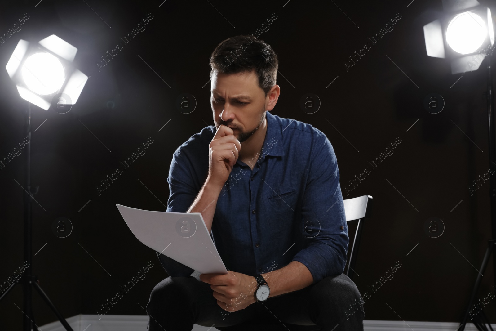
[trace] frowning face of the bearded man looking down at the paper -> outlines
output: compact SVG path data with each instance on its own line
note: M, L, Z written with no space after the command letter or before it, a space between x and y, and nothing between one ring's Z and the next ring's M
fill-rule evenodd
M226 74L215 70L211 86L210 104L215 128L225 125L233 129L240 142L244 142L265 119L265 93L258 86L255 71Z

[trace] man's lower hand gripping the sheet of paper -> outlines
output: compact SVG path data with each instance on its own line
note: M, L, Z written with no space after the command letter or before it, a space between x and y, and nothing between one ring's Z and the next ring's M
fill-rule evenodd
M220 308L235 312L255 303L257 283L253 276L228 270L227 274L202 273L200 280L209 283Z

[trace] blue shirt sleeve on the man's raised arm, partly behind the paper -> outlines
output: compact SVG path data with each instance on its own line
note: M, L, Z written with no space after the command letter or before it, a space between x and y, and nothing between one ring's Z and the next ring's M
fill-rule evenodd
M192 175L188 171L190 162L185 153L180 149L174 152L169 176L169 200L167 202L167 211L169 212L186 212L191 203L198 195L199 190L195 190L192 183ZM164 267L167 274L171 277L189 276L194 269L164 254L157 252L160 264Z

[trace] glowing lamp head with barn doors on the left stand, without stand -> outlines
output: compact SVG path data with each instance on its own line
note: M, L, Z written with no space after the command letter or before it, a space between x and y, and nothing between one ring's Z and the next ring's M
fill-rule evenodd
M72 65L76 52L77 48L56 35L37 44L21 39L5 69L19 95L38 107L73 105L88 78Z

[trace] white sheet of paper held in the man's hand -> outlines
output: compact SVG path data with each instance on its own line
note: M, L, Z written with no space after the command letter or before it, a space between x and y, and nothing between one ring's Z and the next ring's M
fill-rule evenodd
M151 211L116 205L134 236L149 248L200 273L228 273L201 213Z

